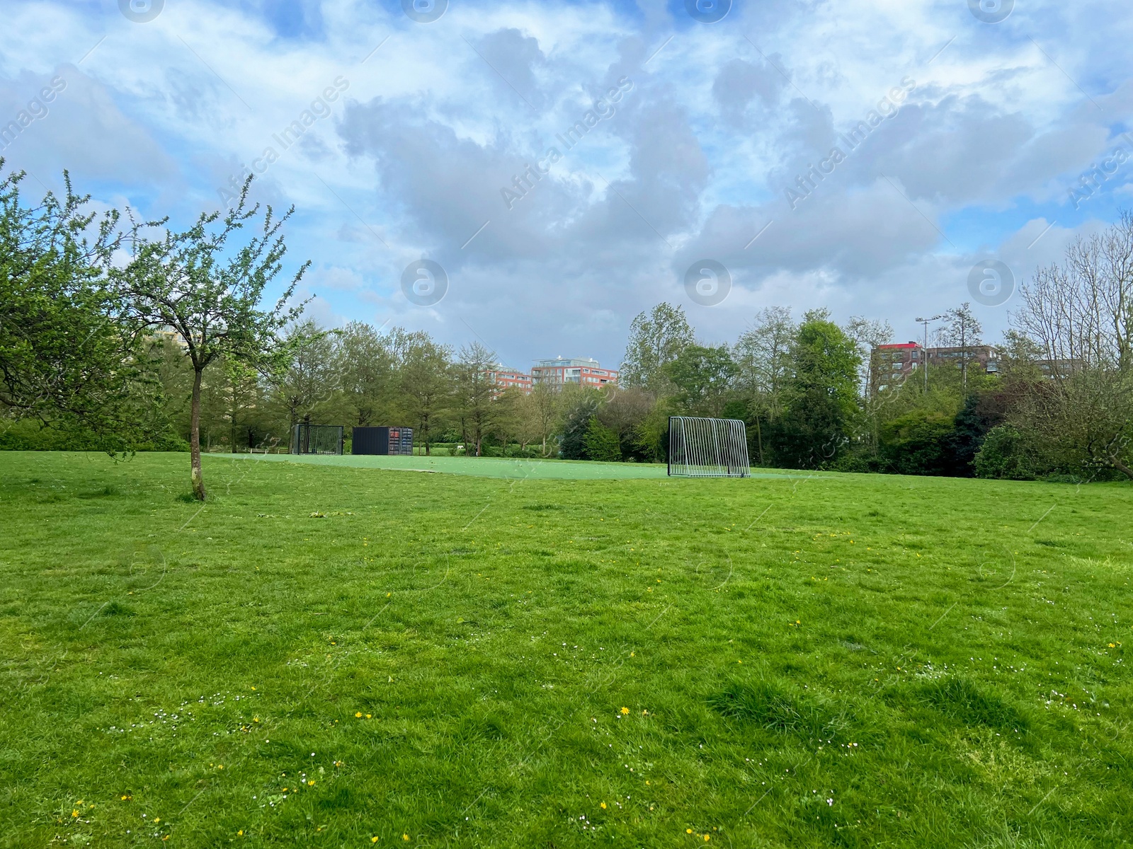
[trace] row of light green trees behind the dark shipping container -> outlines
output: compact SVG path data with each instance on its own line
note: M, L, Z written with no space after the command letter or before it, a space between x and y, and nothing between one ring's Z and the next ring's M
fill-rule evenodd
M187 397L191 374L176 340L163 342L161 380L170 398ZM499 392L489 378L495 355L478 342L459 352L423 331L380 333L363 321L325 331L314 321L290 326L289 365L258 375L227 361L205 372L201 435L207 448L244 451L287 445L303 421L350 427L402 424L426 454L437 443L472 455L504 452L551 456L562 396L548 386L529 395ZM187 430L189 406L171 404Z

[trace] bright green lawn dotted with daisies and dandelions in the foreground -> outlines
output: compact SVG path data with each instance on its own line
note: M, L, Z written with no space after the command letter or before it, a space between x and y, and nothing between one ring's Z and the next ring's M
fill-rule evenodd
M1133 839L1128 486L205 481L0 454L0 844Z

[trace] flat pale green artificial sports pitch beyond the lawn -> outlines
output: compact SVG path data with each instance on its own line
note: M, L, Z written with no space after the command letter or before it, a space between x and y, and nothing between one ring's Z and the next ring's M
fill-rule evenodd
M244 462L310 463L342 465L356 469L390 469L406 472L442 472L475 478L517 478L557 480L633 480L663 479L665 465L659 463L595 463L571 460L509 460L506 457L386 457L370 454L204 454L210 460ZM798 472L752 472L752 478L804 478ZM824 475L825 477L825 475Z

